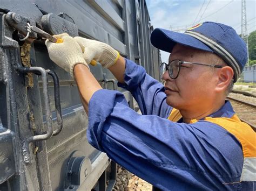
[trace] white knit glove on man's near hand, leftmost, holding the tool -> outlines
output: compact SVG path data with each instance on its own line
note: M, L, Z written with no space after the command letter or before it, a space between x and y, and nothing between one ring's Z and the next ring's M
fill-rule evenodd
M69 72L72 77L73 69L77 63L82 63L89 68L83 58L82 49L69 34L57 34L54 37L63 39L63 43L52 43L48 39L45 41L50 59L53 62Z

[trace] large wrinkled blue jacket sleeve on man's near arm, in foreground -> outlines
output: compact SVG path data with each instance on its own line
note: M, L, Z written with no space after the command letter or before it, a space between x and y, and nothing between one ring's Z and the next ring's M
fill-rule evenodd
M210 122L184 124L139 115L118 91L103 89L93 94L87 139L130 172L164 190L220 189L223 182L239 181L241 174L241 146L226 130Z

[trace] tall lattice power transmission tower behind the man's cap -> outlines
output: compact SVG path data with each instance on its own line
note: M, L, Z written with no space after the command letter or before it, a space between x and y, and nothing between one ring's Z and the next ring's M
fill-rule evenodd
M248 34L247 34L247 18L246 18L246 2L242 0L242 18L241 18L241 37L247 45L247 65L249 63L249 52L248 52Z

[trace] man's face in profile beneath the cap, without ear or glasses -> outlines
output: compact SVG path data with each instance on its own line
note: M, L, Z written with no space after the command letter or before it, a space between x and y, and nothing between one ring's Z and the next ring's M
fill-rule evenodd
M210 59L210 54L177 44L169 56L169 62L181 60L215 65L216 63L212 63ZM163 79L166 81L167 104L180 110L191 107L200 109L202 104L210 107L215 98L214 88L218 81L218 75L214 70L208 66L182 64L177 79L171 79L166 71Z

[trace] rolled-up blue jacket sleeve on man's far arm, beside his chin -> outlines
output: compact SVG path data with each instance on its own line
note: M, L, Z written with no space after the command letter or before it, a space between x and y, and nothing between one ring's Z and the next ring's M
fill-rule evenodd
M142 66L131 60L125 59L125 65L125 84L118 83L118 86L131 92L143 115L167 118L172 107L166 104L163 84L146 74Z

